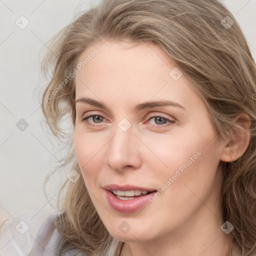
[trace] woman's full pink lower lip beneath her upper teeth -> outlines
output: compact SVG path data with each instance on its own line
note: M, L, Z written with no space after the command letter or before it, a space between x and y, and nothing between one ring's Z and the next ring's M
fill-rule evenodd
M121 199L116 198L111 191L106 190L106 189L104 189L104 190L105 190L106 199L107 199L108 203L110 204L110 206L114 210L119 211L119 212L124 212L124 213L132 213L137 210L140 210L149 202L149 197L153 196L154 193L156 193L156 191L154 191L149 194L146 194L146 195L143 195L140 197L136 197L134 199L121 200Z

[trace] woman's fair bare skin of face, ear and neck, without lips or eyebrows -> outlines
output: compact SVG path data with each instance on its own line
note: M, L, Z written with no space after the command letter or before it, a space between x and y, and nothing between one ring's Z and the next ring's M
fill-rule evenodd
M112 236L125 242L121 256L227 255L231 233L220 229L226 221L221 214L221 161L245 151L248 133L229 139L230 146L216 136L202 99L184 74L178 80L169 75L176 65L159 46L105 41L88 47L79 61L95 47L99 53L75 76L76 99L90 97L109 110L76 103L74 149L100 218ZM149 100L171 100L185 109L134 110ZM103 118L97 122L90 117L87 121L94 126L89 126L81 120L86 114ZM174 122L152 117L159 115ZM243 117L237 122L248 127ZM123 118L131 124L127 131L118 127ZM158 190L197 151L201 155L142 210L120 213L108 204L104 185ZM118 228L123 221L131 226L125 234Z

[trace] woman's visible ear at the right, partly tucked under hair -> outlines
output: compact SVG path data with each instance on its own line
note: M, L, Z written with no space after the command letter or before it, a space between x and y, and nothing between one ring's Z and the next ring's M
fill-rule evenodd
M250 127L251 122L247 114L242 113L235 118L230 136L225 142L221 152L221 161L231 162L243 155L249 144Z

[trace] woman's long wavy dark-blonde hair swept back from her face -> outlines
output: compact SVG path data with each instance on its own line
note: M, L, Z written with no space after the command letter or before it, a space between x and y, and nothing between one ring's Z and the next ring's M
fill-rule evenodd
M104 0L81 13L51 39L50 50L42 62L44 74L51 71L41 100L42 111L53 134L68 148L68 154L52 173L70 164L71 169L81 174L72 141L66 140L68 136L60 127L65 116L71 117L73 127L76 118L74 79L63 81L74 72L84 49L106 39L159 45L204 100L221 136L232 131L239 113L249 116L250 141L245 153L233 162L224 163L222 202L223 218L234 226L231 245L238 244L242 256L253 255L256 252L256 68L237 21L217 0ZM60 107L61 102L67 106ZM61 192L64 212L55 221L63 234L58 256L72 248L85 255L119 255L123 242L105 228L83 179L74 183L66 179L58 194L59 201Z

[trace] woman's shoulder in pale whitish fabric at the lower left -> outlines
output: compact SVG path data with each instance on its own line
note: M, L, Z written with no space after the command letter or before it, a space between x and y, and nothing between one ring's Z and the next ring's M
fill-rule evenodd
M31 249L36 247L36 244L42 243L43 240L52 243L52 238L59 238L60 235L53 223L58 214L61 214L61 211L28 209L22 210L12 218L5 220L0 228L0 255L24 256L28 255ZM52 236L53 234L55 235ZM46 239L46 237L52 238Z

